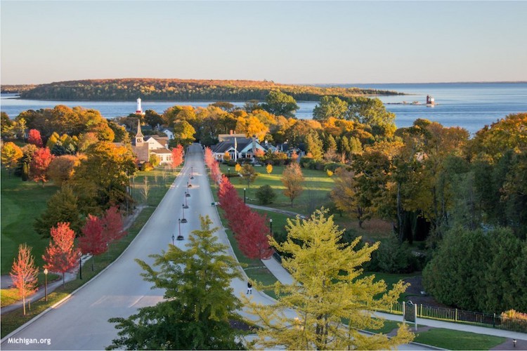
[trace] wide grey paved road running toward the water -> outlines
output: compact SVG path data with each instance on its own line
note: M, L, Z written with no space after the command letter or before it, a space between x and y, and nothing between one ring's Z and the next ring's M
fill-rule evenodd
M189 190L190 208L185 210L188 223L181 225L182 234L188 237L189 232L199 229L200 214L209 215L214 226L221 228L216 233L220 241L230 247L216 207L211 206L213 197L202 161L201 147L193 145L186 156L186 164L181 176L175 180L160 206L122 257L65 303L11 336L18 341L21 341L21 338L37 341L42 339L44 343L25 345L9 343L8 338L4 338L1 349L102 350L110 345L112 338L117 336L114 325L108 323L110 317L128 317L139 307L155 305L162 300L162 291L150 289L150 283L143 281L140 276L141 269L134 262L134 258L140 258L151 264L152 259L148 255L167 249L172 234L177 236L178 218L182 216L181 205L185 201L186 183L191 169L194 180L191 180L193 187ZM186 240L176 241L176 246L183 248L185 243ZM242 294L245 293L246 284L245 279L234 279L231 285L236 293ZM254 291L252 297L259 303L273 303L271 298L259 291ZM46 343L48 339L49 345ZM422 348L415 345L401 347L404 350L422 350Z

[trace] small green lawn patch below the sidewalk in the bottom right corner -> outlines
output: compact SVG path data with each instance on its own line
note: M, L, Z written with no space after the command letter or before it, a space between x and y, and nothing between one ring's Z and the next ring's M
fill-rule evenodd
M447 350L490 350L504 343L506 338L483 334L434 328L417 333L414 341L426 345L442 347Z

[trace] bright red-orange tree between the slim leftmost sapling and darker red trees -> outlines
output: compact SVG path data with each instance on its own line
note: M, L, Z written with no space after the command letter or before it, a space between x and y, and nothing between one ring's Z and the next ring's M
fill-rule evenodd
M70 272L77 265L79 249L74 247L75 232L71 230L70 223L60 222L56 227L51 228L51 241L42 255L44 268L51 272L63 274L63 287L65 283L65 273Z

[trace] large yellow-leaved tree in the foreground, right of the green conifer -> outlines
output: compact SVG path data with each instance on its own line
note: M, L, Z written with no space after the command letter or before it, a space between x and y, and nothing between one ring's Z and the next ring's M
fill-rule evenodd
M360 238L351 244L339 244L342 230L333 218L317 210L308 220L287 220L287 240L276 249L289 253L282 264L291 272L292 284L276 282L273 286L278 302L261 305L242 296L249 312L256 316L258 338L254 345L265 349L287 350L385 350L408 343L413 336L402 326L396 336L364 335L358 329L379 329L384 320L369 310L396 302L408 284L399 281L386 291L384 281L373 276L360 277L360 265L371 258L379 243L356 249ZM346 324L344 323L346 322Z

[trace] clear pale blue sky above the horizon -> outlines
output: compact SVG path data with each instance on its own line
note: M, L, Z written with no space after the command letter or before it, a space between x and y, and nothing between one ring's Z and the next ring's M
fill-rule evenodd
M527 81L527 1L0 1L0 83Z

